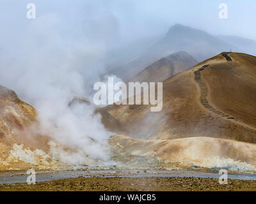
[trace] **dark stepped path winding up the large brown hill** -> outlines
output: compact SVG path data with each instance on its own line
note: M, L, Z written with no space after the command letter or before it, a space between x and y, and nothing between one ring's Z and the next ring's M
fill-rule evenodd
M232 61L231 57L228 56L229 52L224 52L222 55L227 59L227 61ZM205 82L201 78L200 71L203 71L205 68L209 67L209 64L205 64L202 66L202 68L198 69L195 71L195 81L198 83L200 87L200 103L206 108L207 110L216 113L220 115L221 117L224 117L226 119L235 119L234 117L228 115L227 113L221 112L220 110L217 110L214 108L214 106L210 105L209 101L207 100L207 95L208 95L208 88L207 85L205 85ZM236 120L236 119L235 119Z

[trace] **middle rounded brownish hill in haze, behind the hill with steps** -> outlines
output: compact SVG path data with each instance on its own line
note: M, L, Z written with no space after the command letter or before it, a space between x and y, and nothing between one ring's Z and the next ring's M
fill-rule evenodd
M166 78L185 71L196 64L198 64L196 59L187 52L175 52L154 62L131 78L129 82L163 82Z

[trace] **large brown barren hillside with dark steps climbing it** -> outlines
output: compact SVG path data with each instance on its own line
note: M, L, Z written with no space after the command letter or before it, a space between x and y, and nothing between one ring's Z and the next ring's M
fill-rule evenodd
M216 55L165 80L161 112L150 112L148 105L106 109L138 138L207 136L255 143L256 57L228 56L232 61Z

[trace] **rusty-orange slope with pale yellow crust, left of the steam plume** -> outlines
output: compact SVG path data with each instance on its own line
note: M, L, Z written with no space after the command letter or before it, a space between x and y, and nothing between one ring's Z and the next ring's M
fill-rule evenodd
M36 110L17 94L0 85L0 170L21 170L55 166L46 136L26 131L36 122Z

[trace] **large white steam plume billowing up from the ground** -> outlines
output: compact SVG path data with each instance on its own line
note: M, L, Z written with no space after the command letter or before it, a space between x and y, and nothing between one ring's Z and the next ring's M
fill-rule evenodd
M73 32L72 22L56 13L29 21L2 47L0 81L36 108L40 126L35 133L52 138L52 154L70 164L109 163L108 138L113 133L104 128L93 103L73 99L90 101L93 83L105 71L104 57L116 22L109 15L104 15L102 24L100 19L89 19L100 27L100 36L94 35L92 24L81 22L77 26L85 26L87 33ZM111 30L106 22L113 23Z

